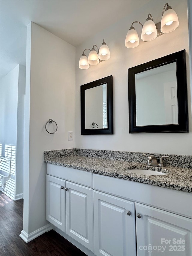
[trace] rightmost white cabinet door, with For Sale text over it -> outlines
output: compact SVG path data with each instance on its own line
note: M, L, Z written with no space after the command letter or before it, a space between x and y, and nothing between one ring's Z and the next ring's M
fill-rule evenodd
M141 218L136 216L138 256L192 255L190 218L140 203L136 203L135 207L136 215L141 215Z

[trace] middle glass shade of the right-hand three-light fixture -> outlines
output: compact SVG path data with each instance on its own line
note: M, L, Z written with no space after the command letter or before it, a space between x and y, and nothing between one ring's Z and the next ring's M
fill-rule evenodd
M141 32L141 40L148 42L157 37L157 28L155 26L154 21L147 20L143 25L143 29Z

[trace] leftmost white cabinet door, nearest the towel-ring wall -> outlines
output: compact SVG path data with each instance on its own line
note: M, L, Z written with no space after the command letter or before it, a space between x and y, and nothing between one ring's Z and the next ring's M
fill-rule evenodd
M65 180L46 175L46 219L65 230Z

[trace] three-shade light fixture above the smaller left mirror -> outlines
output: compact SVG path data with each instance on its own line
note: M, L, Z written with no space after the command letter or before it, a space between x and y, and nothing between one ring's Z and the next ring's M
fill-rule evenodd
M94 48L94 46L96 46L97 48L97 52ZM85 55L85 51L89 50L89 56L88 59ZM103 40L103 43L100 47L100 49L98 48L98 46L96 44L93 45L93 48L90 49L85 49L82 53L81 58L79 59L79 68L81 69L88 69L89 68L89 64L90 65L97 65L99 64L99 62L110 59L110 51L109 51L109 47L107 46L107 44L105 43L105 41Z

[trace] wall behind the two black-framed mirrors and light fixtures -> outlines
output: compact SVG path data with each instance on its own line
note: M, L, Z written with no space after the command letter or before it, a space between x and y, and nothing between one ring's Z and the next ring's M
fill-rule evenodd
M155 23L161 21L161 14L167 1L150 1L137 12L125 17L95 35L76 48L76 148L125 150L134 152L156 152L170 154L192 154L192 121L190 99L189 38L187 1L171 1L171 7L179 17L179 27L150 42L140 40L138 47L125 47L125 37L135 20L144 23L151 13ZM134 24L141 36L142 27ZM111 58L87 70L78 68L79 58L84 49L103 39L110 48ZM158 59L162 56L186 49L187 85L189 106L189 133L129 134L128 120L128 68ZM87 54L87 52L85 52ZM114 135L80 135L80 86L94 80L113 75ZM157 113L158 115L158 113Z

